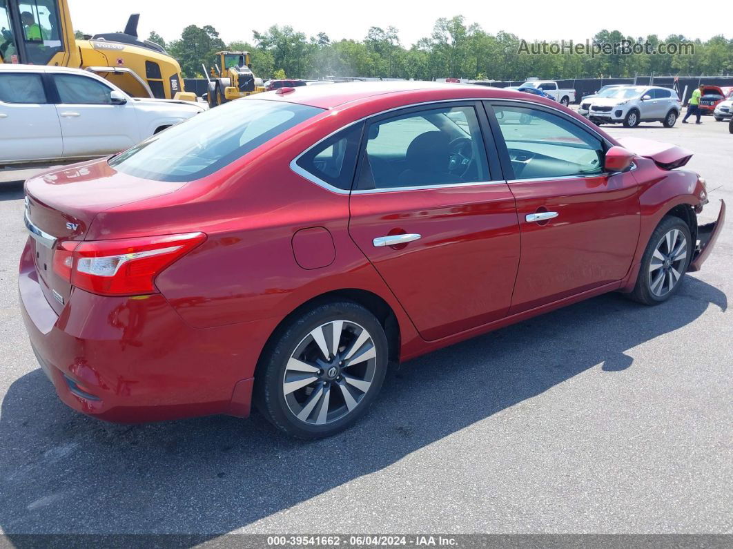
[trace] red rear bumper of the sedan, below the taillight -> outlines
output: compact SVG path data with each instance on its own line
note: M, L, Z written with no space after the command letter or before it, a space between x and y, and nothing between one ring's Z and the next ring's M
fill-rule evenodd
M18 274L23 321L44 372L74 410L125 423L248 415L267 337L259 323L191 328L163 295L78 289L56 314L41 284L26 246Z

